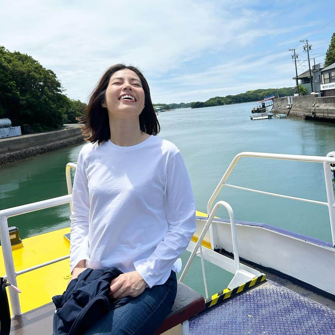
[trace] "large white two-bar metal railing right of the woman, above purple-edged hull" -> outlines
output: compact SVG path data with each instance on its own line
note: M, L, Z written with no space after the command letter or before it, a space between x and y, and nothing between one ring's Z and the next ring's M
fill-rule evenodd
M304 198L298 198L298 197L291 197L288 195L283 194L277 194L277 193L271 193L266 191L260 191L255 189L249 189L242 186L237 185L231 185L226 184L226 180L231 174L232 170L236 166L237 162L242 157L254 157L254 158L270 158L270 159L280 159L280 160L293 160L293 161L305 161L305 162L315 162L315 163L322 163L323 164L323 171L325 176L325 182L326 182L326 192L327 192L327 202L323 201L317 201L317 200L311 200L311 199L304 199ZM240 190L245 191L251 191L255 193L261 193L261 194L267 194L275 197L280 198L286 198L291 200L299 200L304 202L310 202L310 203L316 203L320 205L328 206L328 212L329 212L329 219L330 219L330 228L331 228L331 234L332 234L332 243L333 246L335 246L335 200L334 200L334 190L333 190L333 182L332 182L332 176L331 176L331 165L335 164L335 157L323 157L323 156L306 156L306 155L288 155L288 154L277 154L277 153L265 153L265 152L241 152L237 154L234 159L231 161L230 165L228 166L226 172L224 173L223 177L221 178L219 184L215 188L212 196L210 197L208 204L207 204L207 214L211 212L211 206L219 194L221 188L223 186L237 188ZM212 226L210 227L210 236L211 236L211 244L212 248L215 247L216 243L214 241Z

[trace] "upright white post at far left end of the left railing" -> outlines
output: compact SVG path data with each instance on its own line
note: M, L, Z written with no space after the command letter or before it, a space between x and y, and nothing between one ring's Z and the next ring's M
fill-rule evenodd
M8 232L8 222L7 222L6 216L0 217L0 240L1 240L2 253L3 253L5 271L6 271L8 282L10 284L17 286L12 247L10 244L10 238L9 238L9 232ZM9 291L9 298L10 298L10 304L12 307L13 316L20 315L21 307L20 307L20 300L19 300L18 292L14 291L11 288L9 288L8 291Z

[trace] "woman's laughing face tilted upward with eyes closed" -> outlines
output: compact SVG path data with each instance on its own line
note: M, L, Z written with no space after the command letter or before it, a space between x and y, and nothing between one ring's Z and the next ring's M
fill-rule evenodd
M108 83L105 103L108 113L122 118L138 116L144 108L144 90L138 75L129 69L115 72Z

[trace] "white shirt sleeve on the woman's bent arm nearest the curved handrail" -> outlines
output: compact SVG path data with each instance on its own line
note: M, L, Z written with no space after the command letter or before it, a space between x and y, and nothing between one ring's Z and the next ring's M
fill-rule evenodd
M186 250L196 228L194 195L180 151L167 163L164 208L169 230L163 241L148 258L134 262L150 288L169 278L173 264Z

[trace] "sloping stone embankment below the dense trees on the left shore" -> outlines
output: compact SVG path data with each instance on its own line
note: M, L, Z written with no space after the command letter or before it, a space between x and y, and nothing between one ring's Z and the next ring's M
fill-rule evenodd
M84 142L79 124L66 124L61 129L0 139L0 166L24 158Z

